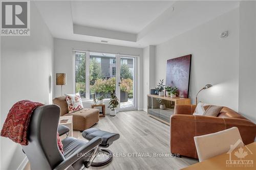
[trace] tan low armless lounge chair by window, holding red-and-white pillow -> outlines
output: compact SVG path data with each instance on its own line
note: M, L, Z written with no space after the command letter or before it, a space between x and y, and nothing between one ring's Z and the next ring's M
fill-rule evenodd
M53 104L60 107L60 116L73 115L73 130L83 131L99 122L98 109L84 108L82 110L69 113L65 96L53 99Z

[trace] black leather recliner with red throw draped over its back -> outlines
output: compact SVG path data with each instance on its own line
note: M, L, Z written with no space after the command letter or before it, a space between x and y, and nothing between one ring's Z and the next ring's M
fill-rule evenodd
M89 142L67 137L62 140L64 154L59 151L59 115L60 108L56 105L40 106L33 111L27 136L29 144L22 146L31 169L88 168L96 156L98 145L102 142L101 137L95 137ZM60 132L60 135L62 134L65 132Z

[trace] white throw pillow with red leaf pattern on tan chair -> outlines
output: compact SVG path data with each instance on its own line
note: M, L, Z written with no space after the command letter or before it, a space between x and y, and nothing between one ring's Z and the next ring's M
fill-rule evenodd
M69 113L83 109L82 100L79 93L65 94Z

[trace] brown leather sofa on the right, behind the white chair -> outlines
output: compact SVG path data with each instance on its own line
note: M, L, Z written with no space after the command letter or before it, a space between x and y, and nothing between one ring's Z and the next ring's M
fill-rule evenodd
M176 105L170 116L171 153L197 158L194 136L238 127L244 144L254 142L256 125L241 114L223 107L217 117L192 115L196 105ZM220 139L221 140L221 139Z

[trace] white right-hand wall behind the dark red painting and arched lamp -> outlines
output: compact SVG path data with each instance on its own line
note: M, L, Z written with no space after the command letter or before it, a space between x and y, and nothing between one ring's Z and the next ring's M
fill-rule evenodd
M226 30L229 36L220 38ZM202 91L199 101L238 111L239 9L156 45L155 84L159 79L166 80L167 59L187 54L192 54L189 88L192 103L195 104L196 93L210 83L214 87Z

